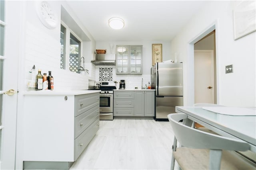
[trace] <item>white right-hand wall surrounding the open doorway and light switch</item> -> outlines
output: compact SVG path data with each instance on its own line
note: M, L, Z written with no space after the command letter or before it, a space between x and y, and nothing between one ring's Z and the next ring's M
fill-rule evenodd
M255 32L234 40L233 14L236 1L210 1L192 17L171 42L172 53L184 63L184 106L194 102L194 63L188 56L188 43L216 24L217 103L227 106L256 106ZM192 59L193 61L193 59ZM225 74L233 64L234 72ZM192 74L191 74L192 73Z

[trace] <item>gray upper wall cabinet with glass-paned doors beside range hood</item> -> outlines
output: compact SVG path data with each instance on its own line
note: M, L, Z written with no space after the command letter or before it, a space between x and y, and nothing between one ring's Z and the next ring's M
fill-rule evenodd
M142 45L116 46L116 74L142 74Z

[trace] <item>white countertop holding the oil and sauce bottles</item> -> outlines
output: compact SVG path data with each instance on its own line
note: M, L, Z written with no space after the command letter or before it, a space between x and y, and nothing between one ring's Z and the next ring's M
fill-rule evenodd
M97 93L101 90L39 90L39 91L26 91L24 95L80 95Z

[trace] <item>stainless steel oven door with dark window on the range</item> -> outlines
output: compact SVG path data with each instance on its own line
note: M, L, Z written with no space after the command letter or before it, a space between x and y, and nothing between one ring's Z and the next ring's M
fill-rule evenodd
M100 94L100 113L113 113L113 94Z

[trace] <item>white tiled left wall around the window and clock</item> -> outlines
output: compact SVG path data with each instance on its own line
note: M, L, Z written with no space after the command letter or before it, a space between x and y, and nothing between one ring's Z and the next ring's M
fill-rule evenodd
M90 36L90 33L86 32L83 25L80 24L80 20L76 18L73 12L69 9L66 2L61 1L49 1L53 10L58 16L58 25L60 25L60 7L63 5L68 11L70 16L81 27L85 34L91 39L91 41L84 41L86 45L82 49L84 52L82 56L87 57L86 62L93 59L93 50L95 47L95 41ZM60 27L54 29L48 29L39 20L36 14L36 1L30 1L26 3L26 39L25 39L25 81L24 87L28 78L28 72L35 64L36 72L40 68L42 74L52 71L54 77L54 90L79 90L88 88L88 76L77 74L69 70L60 69ZM92 69L90 64L86 64L87 69ZM90 72L89 76L94 76Z

